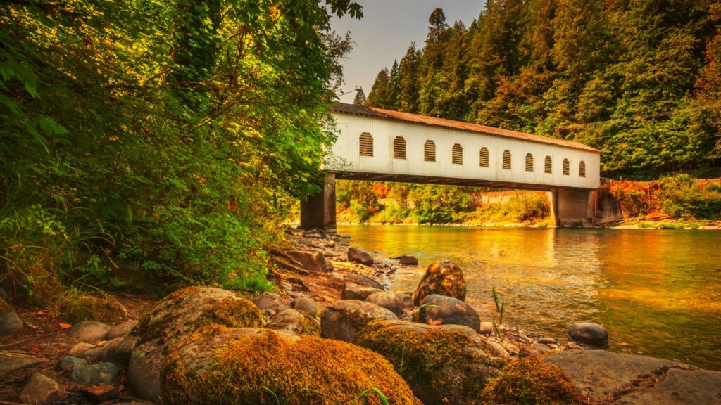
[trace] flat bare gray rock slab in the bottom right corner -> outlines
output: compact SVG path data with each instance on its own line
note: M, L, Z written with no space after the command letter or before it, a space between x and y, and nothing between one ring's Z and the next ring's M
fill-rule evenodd
M565 370L592 402L613 396L620 405L721 403L721 373L681 362L605 350L565 350L545 361Z

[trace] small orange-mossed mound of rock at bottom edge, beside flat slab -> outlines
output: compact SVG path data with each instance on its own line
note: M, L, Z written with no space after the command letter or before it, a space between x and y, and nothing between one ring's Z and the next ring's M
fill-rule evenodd
M473 404L483 405L570 405L580 404L571 376L539 356L518 358L508 363L498 378L483 390Z

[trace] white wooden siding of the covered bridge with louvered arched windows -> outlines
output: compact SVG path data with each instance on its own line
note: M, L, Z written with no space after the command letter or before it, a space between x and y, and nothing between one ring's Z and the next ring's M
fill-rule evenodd
M539 190L576 188L593 190L600 185L600 153L501 135L472 133L384 118L332 112L340 135L332 146L333 159L323 169L329 172L402 174L447 179L475 179L489 182L539 185ZM373 156L361 156L359 138L373 136ZM393 140L406 141L406 159L393 159ZM435 142L435 162L424 161L425 141ZM463 164L453 164L452 148L463 147ZM488 148L489 167L479 165L479 151ZM511 153L511 169L503 169L503 151ZM534 156L534 171L526 172L526 153ZM552 158L552 174L545 173L546 156ZM562 174L563 160L570 161L570 175ZM580 161L585 177L579 176ZM532 188L532 187L528 187Z

